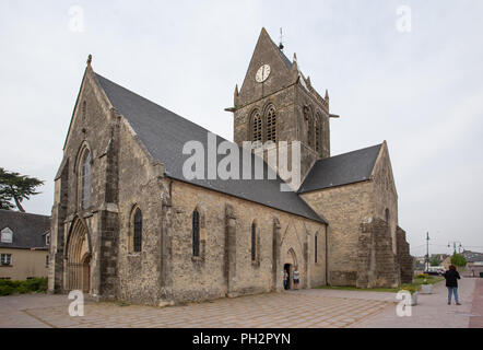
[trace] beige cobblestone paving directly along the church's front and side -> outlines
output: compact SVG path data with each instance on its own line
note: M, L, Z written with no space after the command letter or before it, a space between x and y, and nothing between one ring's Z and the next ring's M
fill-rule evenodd
M87 302L83 317L69 316L67 295L14 295L0 298L0 327L342 328L393 305L394 294L364 294L299 290L168 307Z

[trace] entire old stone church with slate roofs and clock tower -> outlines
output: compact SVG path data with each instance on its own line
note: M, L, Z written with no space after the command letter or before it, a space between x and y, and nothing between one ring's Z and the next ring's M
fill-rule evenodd
M412 280L386 141L331 156L327 91L264 28L227 108L231 144L299 141L302 183L290 191L281 176L188 179L184 145L207 145L209 131L91 61L55 178L50 292L164 305L283 291L295 268L301 288Z

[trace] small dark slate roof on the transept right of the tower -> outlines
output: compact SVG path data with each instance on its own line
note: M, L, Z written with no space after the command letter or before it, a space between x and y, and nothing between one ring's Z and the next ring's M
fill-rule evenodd
M303 194L369 179L381 147L382 144L377 144L317 161L298 192Z

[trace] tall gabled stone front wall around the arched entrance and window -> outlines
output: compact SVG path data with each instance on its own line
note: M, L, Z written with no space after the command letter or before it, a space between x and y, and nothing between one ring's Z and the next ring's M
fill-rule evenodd
M116 203L109 203L110 199L107 195L107 183L116 183L111 175L116 155L106 156L116 125L110 108L104 93L97 88L93 71L89 66L66 140L62 163L56 176L56 196L52 207L52 218L55 219L52 220L50 246L51 259L55 264L50 265L49 276L54 277L51 278L52 282L49 283L50 292L67 291L66 242L75 220L82 220L87 228L87 241L92 255L91 293L99 296L103 282L116 275L113 266L109 266L109 271L101 271L101 261L106 260L107 256L111 256L111 249L114 252L116 249L113 243L109 246L103 244L105 242L104 234L116 231L111 225L113 215L116 215L117 211ZM80 152L85 147L90 149L92 154L91 206L82 209L79 198L79 162ZM111 148L110 152L116 153L116 149ZM101 246L104 248L101 249ZM109 288L108 294L113 293L115 292Z

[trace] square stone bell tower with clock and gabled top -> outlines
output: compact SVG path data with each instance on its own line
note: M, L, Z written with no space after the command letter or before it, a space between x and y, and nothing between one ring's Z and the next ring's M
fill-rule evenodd
M301 179L314 163L330 156L329 95L320 96L264 28L261 30L241 89L235 88L234 141L301 142ZM280 148L279 148L280 152ZM291 161L290 161L291 162ZM288 162L288 164L291 164ZM282 176L283 178L283 176Z

